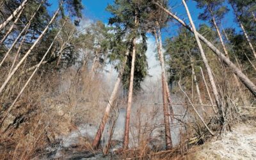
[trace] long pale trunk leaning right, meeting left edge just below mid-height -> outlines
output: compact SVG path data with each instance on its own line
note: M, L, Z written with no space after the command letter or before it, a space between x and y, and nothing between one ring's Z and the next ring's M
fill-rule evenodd
M36 44L38 44L39 40L42 38L42 36L45 35L46 31L49 29L49 26L52 24L53 20L55 19L55 17L58 15L58 12L60 11L60 8L58 8L58 10L54 13L51 21L47 24L47 26L45 27L44 31L41 33L40 36L38 36L38 38L36 39L36 41L34 42L34 44L30 47L30 49L28 50L28 52L26 52L26 54L23 56L23 58L19 61L19 63L17 64L17 66L15 68L13 68L13 71L11 72L11 74L6 78L6 80L4 81L4 83L2 84L1 88L0 88L0 95L4 90L4 87L8 84L8 82L10 81L10 79L12 78L12 76L15 74L15 72L19 69L20 65L22 65L22 63L26 60L26 58L28 57L28 55L30 54L30 52L34 49L34 47L36 46Z

